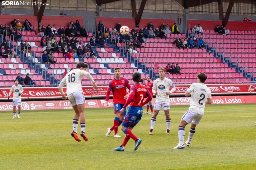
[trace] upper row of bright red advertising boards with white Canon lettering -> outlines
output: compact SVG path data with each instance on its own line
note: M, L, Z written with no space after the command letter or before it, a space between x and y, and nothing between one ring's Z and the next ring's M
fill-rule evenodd
M256 88L256 84L207 84L212 94L246 94L248 89ZM190 87L190 84L175 84L176 91L172 95L183 95ZM107 86L99 86L96 89L93 87L82 87L84 96L86 97L105 97ZM66 92L66 87L63 87ZM8 98L10 88L0 88L0 100ZM11 94L12 97L13 94ZM110 94L112 96L112 93ZM61 98L61 93L57 87L37 87L24 88L22 98L38 99L38 98Z

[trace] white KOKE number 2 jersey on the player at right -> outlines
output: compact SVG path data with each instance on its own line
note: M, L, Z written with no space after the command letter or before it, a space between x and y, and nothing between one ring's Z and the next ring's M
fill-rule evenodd
M191 94L189 110L204 115L205 102L212 98L210 89L204 83L193 83L187 92Z

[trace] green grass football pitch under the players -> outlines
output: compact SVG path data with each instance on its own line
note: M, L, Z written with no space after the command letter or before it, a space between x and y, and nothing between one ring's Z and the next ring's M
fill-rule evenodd
M189 106L171 106L170 135L166 135L163 111L149 135L151 115L143 115L133 132L142 139L134 151L131 139L124 152L113 149L122 138L106 137L113 125L113 108L85 109L88 141L75 141L74 110L0 112L0 169L94 169L94 170L233 170L256 169L256 105L208 105L191 146L174 150L178 125ZM145 108L144 108L145 111ZM79 131L80 133L80 126ZM185 141L189 126L185 128ZM80 139L82 139L80 137Z

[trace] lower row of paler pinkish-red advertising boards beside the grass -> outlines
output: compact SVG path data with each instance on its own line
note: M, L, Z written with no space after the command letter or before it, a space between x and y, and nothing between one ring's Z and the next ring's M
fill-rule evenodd
M86 100L85 108L104 108L105 100L95 99ZM155 98L152 99L155 103ZM255 96L213 96L213 105L236 104L236 103L256 103ZM170 98L170 106L189 105L190 97L172 97ZM114 106L113 99L109 100L109 109ZM112 108L111 108L112 107ZM32 101L22 102L21 110L47 110L47 109L72 109L72 105L68 100L61 101ZM12 102L0 102L1 111L12 111Z

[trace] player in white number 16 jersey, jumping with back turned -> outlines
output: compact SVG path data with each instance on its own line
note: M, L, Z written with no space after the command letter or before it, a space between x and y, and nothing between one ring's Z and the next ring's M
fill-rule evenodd
M84 62L78 62L76 65L76 69L71 70L67 73L67 75L62 79L59 84L59 90L62 94L62 99L67 99L70 101L72 107L75 110L75 116L73 118L73 131L71 136L75 138L76 141L80 142L77 135L77 126L78 120L80 117L80 125L81 125L81 136L87 141L87 137L85 135L85 97L82 90L82 77L87 76L90 81L93 83L93 88L97 87L97 84L94 82L93 77L91 77L90 73L86 72L86 68L88 68L88 64ZM67 97L65 96L62 87L67 84Z

